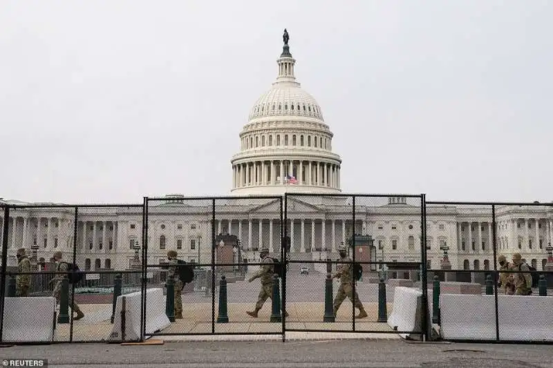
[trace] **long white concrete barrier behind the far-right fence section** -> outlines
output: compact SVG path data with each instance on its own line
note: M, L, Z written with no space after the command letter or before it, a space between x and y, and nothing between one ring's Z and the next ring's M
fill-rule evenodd
M440 294L444 340L496 340L495 297ZM553 296L498 295L500 340L553 341Z

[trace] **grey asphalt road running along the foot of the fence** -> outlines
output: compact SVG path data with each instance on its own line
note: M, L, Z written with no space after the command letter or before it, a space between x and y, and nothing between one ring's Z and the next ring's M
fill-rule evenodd
M3 347L0 357L47 358L48 367L553 367L547 345L407 343L402 340L166 342Z

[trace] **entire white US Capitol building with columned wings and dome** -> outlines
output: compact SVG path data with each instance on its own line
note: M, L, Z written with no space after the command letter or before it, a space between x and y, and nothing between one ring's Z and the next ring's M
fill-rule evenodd
M240 133L240 151L232 157L232 195L288 197L290 258L336 259L337 247L350 236L351 197L341 193L341 158L332 151L334 135L321 106L296 79L296 60L288 32L277 59L277 79L254 103ZM167 250L189 262L211 262L212 202L183 195L150 202L148 264L165 262ZM32 205L18 200L1 204ZM42 204L42 203L41 203ZM52 204L53 205L53 204ZM218 200L216 234L240 240L234 262L259 262L259 249L280 246L278 200ZM73 258L73 208L10 209L8 265L21 246L49 260L54 251ZM142 209L79 208L77 263L86 270L128 269L135 244L142 239ZM1 213L3 215L3 211ZM5 219L1 219L3 222ZM355 233L371 235L371 260L420 262L420 199L356 197ZM496 206L498 253L521 253L528 264L543 269L545 248L552 238L553 211L546 206ZM491 206L427 206L428 265L440 268L442 246L449 247L452 269L493 269ZM239 254L239 255L238 255Z

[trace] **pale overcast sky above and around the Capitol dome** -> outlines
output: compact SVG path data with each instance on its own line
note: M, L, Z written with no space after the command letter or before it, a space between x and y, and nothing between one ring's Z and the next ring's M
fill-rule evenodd
M227 195L283 28L346 193L553 200L552 1L1 1L0 197Z

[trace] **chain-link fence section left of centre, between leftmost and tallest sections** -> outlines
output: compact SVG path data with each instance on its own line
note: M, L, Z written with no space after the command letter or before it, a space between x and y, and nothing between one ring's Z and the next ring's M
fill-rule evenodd
M264 249L282 260L282 202L282 197L148 198L147 273L159 273L164 284L147 278L147 288L163 288L171 325L147 335L281 334L281 320L270 316L272 287L279 291L279 282L258 271ZM182 261L191 265L191 279L185 267L176 267Z

